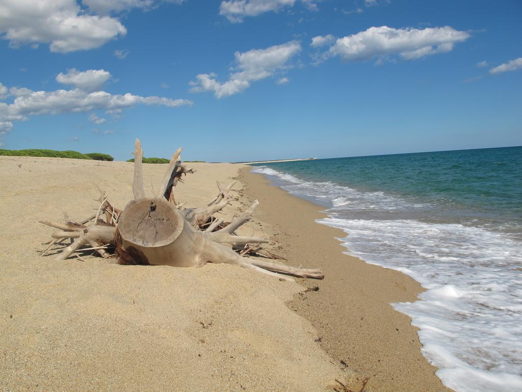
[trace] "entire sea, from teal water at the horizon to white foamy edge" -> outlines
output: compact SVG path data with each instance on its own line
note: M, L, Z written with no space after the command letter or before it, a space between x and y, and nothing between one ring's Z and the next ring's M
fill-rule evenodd
M522 391L522 147L255 165L324 206L346 253L426 291L392 304L456 391ZM347 260L347 262L349 262Z

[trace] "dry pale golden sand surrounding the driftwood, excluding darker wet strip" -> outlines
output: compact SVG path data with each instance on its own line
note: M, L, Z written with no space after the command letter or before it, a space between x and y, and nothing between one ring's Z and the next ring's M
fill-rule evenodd
M188 205L215 197L215 180L238 171L192 166L176 194ZM95 183L123 207L132 167L0 157L0 390L325 390L348 374L285 305L298 283L227 264L119 266L37 253L51 232L38 221L89 216ZM164 169L144 165L149 194Z

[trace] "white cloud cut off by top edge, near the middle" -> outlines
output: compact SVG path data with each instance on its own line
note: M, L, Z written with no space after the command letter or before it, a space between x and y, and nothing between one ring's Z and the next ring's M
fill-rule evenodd
M301 3L311 11L317 11L320 0L301 0ZM228 0L222 1L219 14L232 23L241 23L245 16L257 16L267 12L279 12L291 8L295 0Z

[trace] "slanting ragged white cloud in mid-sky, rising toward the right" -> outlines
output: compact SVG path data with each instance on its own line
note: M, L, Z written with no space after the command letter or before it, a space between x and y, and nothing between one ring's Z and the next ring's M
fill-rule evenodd
M234 68L237 72L230 74L229 80L219 83L217 75L199 74L197 82L191 82L192 92L213 91L216 97L228 97L240 93L250 87L251 82L273 76L276 72L285 70L291 65L288 62L301 51L301 44L290 41L282 45L274 45L266 49L253 49L248 52L235 52Z

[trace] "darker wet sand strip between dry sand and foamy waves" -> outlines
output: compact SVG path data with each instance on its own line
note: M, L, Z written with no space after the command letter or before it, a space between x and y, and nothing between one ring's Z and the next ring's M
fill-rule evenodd
M260 205L254 215L280 244L293 266L322 268L323 281L300 280L311 289L294 295L290 309L317 329L321 347L337 364L370 377L379 391L450 391L422 356L416 327L390 303L412 302L423 291L417 281L346 255L342 230L316 223L323 207L272 185L262 174L240 170L243 192ZM318 287L313 291L313 287ZM370 390L370 389L369 389Z

